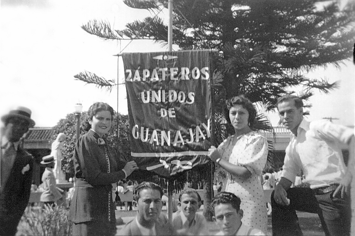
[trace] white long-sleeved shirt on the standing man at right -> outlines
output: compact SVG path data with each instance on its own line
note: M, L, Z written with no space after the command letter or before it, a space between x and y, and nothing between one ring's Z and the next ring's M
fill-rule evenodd
M345 175L341 143L348 144L354 130L328 121L302 120L297 136L291 133L281 177L295 183L300 170L311 189L339 183Z

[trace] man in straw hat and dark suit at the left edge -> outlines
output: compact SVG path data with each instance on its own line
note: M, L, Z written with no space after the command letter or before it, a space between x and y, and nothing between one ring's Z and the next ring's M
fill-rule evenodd
M33 156L20 139L35 125L31 110L16 107L1 116L0 235L15 235L31 194Z

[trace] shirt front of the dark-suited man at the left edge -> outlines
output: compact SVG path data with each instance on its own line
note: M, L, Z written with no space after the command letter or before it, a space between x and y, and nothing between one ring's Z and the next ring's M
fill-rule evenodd
M13 166L13 162L15 161L16 150L15 145L9 142L5 148L1 148L1 182L0 187L4 187L9 175L11 173L11 169Z

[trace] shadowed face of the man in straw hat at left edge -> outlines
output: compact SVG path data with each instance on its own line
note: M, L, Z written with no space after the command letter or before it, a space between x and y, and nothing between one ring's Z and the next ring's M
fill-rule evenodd
M12 117L9 118L4 128L4 136L10 142L17 142L28 131L29 123L25 119Z

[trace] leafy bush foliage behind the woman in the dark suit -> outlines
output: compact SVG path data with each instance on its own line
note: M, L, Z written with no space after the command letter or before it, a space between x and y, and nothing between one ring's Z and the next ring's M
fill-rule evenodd
M81 114L81 120L86 120L87 112ZM75 113L67 114L64 119L53 127L54 135L52 142L55 140L59 133L66 134L64 143L64 150L62 151L62 170L66 173L74 175L73 166L73 152L76 143L76 116ZM80 135L85 132L81 129ZM129 142L129 124L128 116L116 113L113 119L112 128L110 132L105 134L104 138L107 140L108 145L116 151L122 159L129 160L131 156L130 142Z

